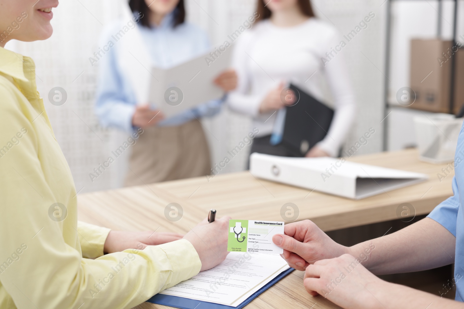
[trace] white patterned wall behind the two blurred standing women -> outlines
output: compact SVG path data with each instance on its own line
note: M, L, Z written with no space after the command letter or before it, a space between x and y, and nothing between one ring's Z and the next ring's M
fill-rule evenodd
M126 134L98 125L93 114L97 70L89 62L89 57L98 48L97 40L103 25L120 16L124 2L61 1L54 9L52 38L32 43L10 42L6 46L35 60L39 92L45 98L45 108L71 167L76 189L82 189L82 192L121 186L127 166L128 154L124 153L125 158L117 158L101 177L93 183L90 181L89 173L127 138ZM342 51L348 62L358 102L358 116L349 133L347 145L353 145L369 127L376 129L374 136L361 147L359 153L380 151L382 145L380 120L383 118L385 41L385 5L380 6L382 2L312 1L316 15L332 22L342 35L354 29L369 12L376 15L367 29L362 30ZM254 7L255 2L251 0L187 0L187 19L206 29L213 44L218 44L251 15ZM68 101L59 107L47 100L48 92L56 86L63 87L68 94ZM216 118L203 122L219 139L206 132L213 152L213 163L221 161L226 151L237 145L250 130L249 119L226 109ZM245 151L242 151L242 157L234 158L226 171L243 170L245 160Z

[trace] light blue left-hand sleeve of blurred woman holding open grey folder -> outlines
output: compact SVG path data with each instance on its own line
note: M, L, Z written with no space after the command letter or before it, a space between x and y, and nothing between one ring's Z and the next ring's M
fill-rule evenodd
M110 36L103 35L102 38ZM102 39L101 46L108 40ZM103 43L106 42L106 43ZM126 132L131 132L132 116L135 112L136 102L134 98L124 91L121 73L116 62L115 47L110 48L98 61L98 86L95 113L103 127L113 126Z

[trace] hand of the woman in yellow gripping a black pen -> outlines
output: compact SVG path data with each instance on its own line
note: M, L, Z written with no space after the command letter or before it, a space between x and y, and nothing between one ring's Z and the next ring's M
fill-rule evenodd
M226 259L227 237L229 235L229 220L225 216L208 223L205 219L190 230L184 239L190 241L201 261L201 271L206 271Z

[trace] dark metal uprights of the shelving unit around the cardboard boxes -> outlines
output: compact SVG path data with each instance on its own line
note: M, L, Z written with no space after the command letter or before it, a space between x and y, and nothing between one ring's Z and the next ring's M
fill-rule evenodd
M389 80L388 76L390 76L390 47L391 47L391 40L392 40L392 3L393 1L401 1L401 0L386 0L387 5L387 33L386 33L386 42L385 42L385 79L384 79L384 123L383 123L383 150L387 151L387 144L388 144L388 119L385 118L388 115L388 109L390 108L390 104L388 103L388 94L389 94ZM419 1L419 0L418 0ZM452 46L456 46L456 34L457 34L457 20L458 20L458 0L454 1L454 18L453 18L453 36ZM437 11L437 37L441 37L441 18L442 18L442 8L443 3L442 0L438 0L438 11ZM454 105L454 87L455 87L455 78L456 78L456 61L455 57L451 57L451 79L450 79L450 101L449 101L449 113L453 113L453 105Z

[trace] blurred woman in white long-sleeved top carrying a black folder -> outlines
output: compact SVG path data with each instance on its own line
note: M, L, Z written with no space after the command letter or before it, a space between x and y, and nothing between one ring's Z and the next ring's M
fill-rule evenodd
M355 114L343 51L333 51L337 45L341 49L341 36L314 16L309 0L258 0L257 12L254 27L235 46L232 66L238 87L228 98L229 106L252 116L259 129L251 152L291 156L281 143L281 91L291 82L324 102L325 77L335 114L325 138L311 145L306 157L338 156Z

